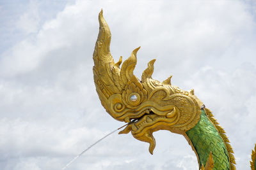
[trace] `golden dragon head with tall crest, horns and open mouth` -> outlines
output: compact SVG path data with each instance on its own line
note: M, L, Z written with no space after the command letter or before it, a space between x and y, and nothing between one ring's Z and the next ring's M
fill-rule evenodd
M163 82L152 79L154 60L148 62L141 81L133 74L139 48L124 61L122 56L114 62L109 51L111 32L99 13L99 36L93 52L93 74L102 106L111 117L129 122L124 131L131 131L134 138L150 144L153 153L156 141L152 133L159 130L185 134L200 119L201 102L189 92L171 85L171 78Z

